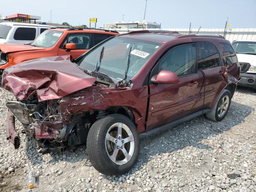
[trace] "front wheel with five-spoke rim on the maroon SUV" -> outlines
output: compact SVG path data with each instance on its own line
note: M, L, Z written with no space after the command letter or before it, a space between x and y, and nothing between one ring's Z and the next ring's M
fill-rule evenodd
M86 150L92 166L102 174L121 175L132 169L140 151L133 122L122 114L99 119L89 130Z

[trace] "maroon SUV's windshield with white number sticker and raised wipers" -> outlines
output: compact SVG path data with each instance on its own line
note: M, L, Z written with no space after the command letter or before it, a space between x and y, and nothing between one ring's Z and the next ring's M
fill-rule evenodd
M128 81L138 73L160 45L156 42L116 37L92 50L78 61L78 65L84 70L97 70L117 80L123 80L129 61L126 78Z

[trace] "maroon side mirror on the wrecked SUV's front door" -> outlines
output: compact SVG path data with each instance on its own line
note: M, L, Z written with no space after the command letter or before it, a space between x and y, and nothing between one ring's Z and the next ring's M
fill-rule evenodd
M152 78L151 82L154 84L178 84L180 80L174 72L162 70Z

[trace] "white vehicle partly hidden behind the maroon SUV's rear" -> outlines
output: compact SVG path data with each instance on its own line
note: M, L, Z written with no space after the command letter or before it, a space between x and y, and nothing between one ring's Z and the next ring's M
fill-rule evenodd
M256 41L234 41L232 45L241 66L238 85L256 90Z

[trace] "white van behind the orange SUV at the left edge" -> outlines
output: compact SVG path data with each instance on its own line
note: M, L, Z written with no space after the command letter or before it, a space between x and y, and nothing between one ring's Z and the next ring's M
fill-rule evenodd
M47 29L48 25L2 22L0 23L0 43L28 44Z

